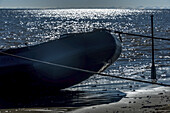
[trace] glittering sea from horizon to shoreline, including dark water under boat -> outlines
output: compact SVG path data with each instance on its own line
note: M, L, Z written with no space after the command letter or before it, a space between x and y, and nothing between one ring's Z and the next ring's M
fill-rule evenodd
M150 15L154 15L154 36L170 38L170 10L135 9L0 9L0 49L20 48L62 38L63 34L106 28L151 35ZM151 39L122 35L122 54L104 72L134 79L150 80ZM158 82L170 84L170 42L155 40ZM2 108L80 107L119 101L127 91L150 84L94 75L54 96L29 97L24 102L0 99ZM157 86L154 86L157 87ZM31 99L30 99L31 98ZM3 100L3 101L2 101ZM21 99L22 100L22 99ZM12 102L11 102L12 101Z

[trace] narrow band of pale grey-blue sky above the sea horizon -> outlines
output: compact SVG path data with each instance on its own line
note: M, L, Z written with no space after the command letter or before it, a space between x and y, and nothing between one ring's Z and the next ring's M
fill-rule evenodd
M0 0L0 8L156 8L170 9L170 0Z

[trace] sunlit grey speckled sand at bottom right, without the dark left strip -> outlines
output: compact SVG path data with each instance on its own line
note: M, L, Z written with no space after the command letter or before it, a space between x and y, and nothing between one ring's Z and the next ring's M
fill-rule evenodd
M127 96L116 103L85 107L69 113L169 113L170 88L147 87L127 92Z

